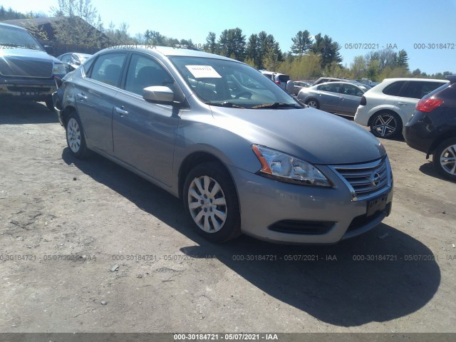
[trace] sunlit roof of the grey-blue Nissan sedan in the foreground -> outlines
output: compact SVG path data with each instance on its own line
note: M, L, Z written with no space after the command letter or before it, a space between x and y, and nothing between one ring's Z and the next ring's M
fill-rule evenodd
M172 48L170 46L155 46L155 45L120 45L120 46L111 46L110 48L105 48L100 52L105 52L109 50L115 50L115 51L140 51L140 52L145 52L145 53L158 53L162 56L186 56L186 57L204 57L204 58L214 58L214 59L223 59L225 61L235 61L238 63L242 63L239 61L236 61L232 58L227 58L224 56L219 56L215 55L213 53L207 53L203 51L197 51L197 50L190 50L188 48Z

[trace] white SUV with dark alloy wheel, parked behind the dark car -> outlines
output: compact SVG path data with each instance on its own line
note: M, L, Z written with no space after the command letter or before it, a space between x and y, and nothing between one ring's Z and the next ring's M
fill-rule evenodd
M376 137L397 137L415 112L418 100L447 82L429 78L386 78L361 97L355 122L371 127Z

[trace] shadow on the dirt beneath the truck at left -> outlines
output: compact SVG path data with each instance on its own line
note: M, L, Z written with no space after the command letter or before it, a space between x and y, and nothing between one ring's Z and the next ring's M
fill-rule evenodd
M58 123L55 112L44 103L27 100L0 100L0 125L24 123Z

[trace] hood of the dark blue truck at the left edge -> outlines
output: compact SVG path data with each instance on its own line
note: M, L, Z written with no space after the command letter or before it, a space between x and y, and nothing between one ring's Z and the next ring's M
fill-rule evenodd
M0 53L0 73L3 76L49 78L53 64L61 63L45 51L29 48L8 48Z

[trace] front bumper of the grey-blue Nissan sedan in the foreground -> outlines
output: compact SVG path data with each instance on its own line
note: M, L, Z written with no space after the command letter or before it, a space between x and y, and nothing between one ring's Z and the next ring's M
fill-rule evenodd
M393 183L380 195L385 208L366 216L373 198L354 201L337 177L332 188L293 185L231 167L242 232L281 244L335 244L376 227L390 214Z

